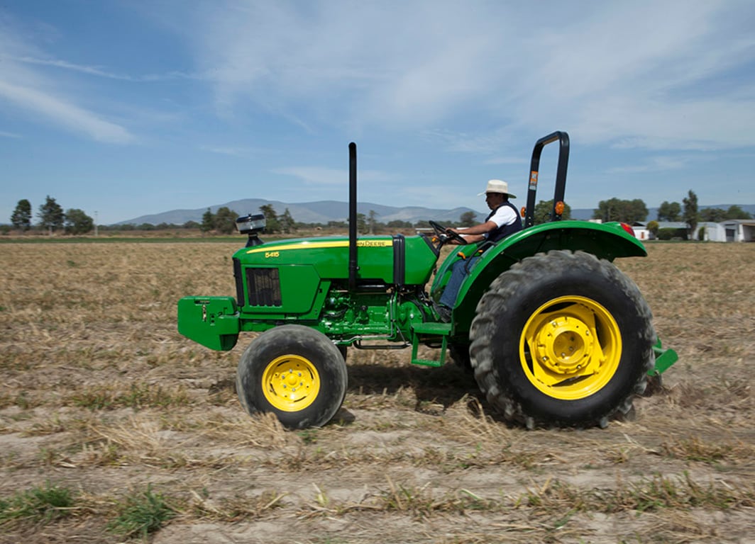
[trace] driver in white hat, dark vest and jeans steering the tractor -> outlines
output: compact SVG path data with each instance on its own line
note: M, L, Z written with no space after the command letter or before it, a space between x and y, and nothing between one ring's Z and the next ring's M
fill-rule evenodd
M488 204L488 208L492 211L485 218L485 221L479 225L474 225L470 228L449 228L448 231L461 234L467 243L475 242L498 242L505 237L515 232L522 230L522 219L519 217L519 212L512 203L509 202L510 198L516 198L509 192L509 184L503 182L500 179L491 179L488 182L488 187L485 188L484 193L480 193L478 196L485 195L485 203ZM448 243L458 244L458 240L449 240ZM439 304L436 304L436 312L441 321L451 321L451 308L456 304L456 296L459 293L461 284L464 283L464 277L467 272L471 270L474 261L479 258L476 255L470 258L468 261L461 260L455 262L451 267L451 278L448 280L442 295L439 298Z

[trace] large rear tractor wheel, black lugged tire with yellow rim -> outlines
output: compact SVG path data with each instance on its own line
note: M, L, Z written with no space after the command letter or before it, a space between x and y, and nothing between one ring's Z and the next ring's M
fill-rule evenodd
M528 428L605 427L630 413L655 362L639 289L584 252L538 254L501 274L477 305L470 340L486 399Z

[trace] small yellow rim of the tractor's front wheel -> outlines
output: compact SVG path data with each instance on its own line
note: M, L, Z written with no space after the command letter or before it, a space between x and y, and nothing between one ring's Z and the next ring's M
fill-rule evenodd
M320 392L320 376L310 359L300 355L280 356L265 368L262 391L274 408L287 412L304 410Z

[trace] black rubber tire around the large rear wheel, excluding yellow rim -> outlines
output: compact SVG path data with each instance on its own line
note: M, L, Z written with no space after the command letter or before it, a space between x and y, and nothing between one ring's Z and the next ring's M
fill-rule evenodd
M639 289L627 278L618 277L620 273L611 264L598 264L592 255L585 255L570 258L572 266L568 267L538 267L531 263L528 273L523 274L527 281L508 285L501 296L492 301L495 309L488 307L487 310L496 314L486 328L488 334L492 333L488 350L492 361L484 366L492 371L492 376L479 375L488 374L482 368L482 372L476 371L478 382L483 390L489 390L492 379L507 399L504 404L513 401L519 405L519 411L541 422L594 423L615 411L618 403L633 393L645 370L649 341L644 337L648 325L643 308L637 304L638 297L643 300ZM505 279L501 284L506 284ZM520 362L519 342L526 322L543 304L562 296L584 297L599 303L615 319L621 335L621 357L615 374L600 390L583 399L557 399L547 395L532 384Z

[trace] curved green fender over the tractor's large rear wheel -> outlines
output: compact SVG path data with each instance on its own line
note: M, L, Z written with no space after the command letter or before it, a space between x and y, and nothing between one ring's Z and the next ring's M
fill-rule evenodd
M522 259L552 249L584 251L607 261L647 255L645 246L621 223L559 221L519 231L484 250L471 267L454 310L455 332L469 330L477 303L495 278Z

